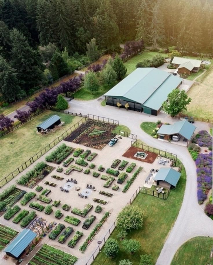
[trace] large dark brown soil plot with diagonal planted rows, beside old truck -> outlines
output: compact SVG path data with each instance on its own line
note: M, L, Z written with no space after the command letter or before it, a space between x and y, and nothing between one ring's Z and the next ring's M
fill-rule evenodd
M112 133L115 127L115 124L87 120L64 140L102 150L115 136L115 133Z

